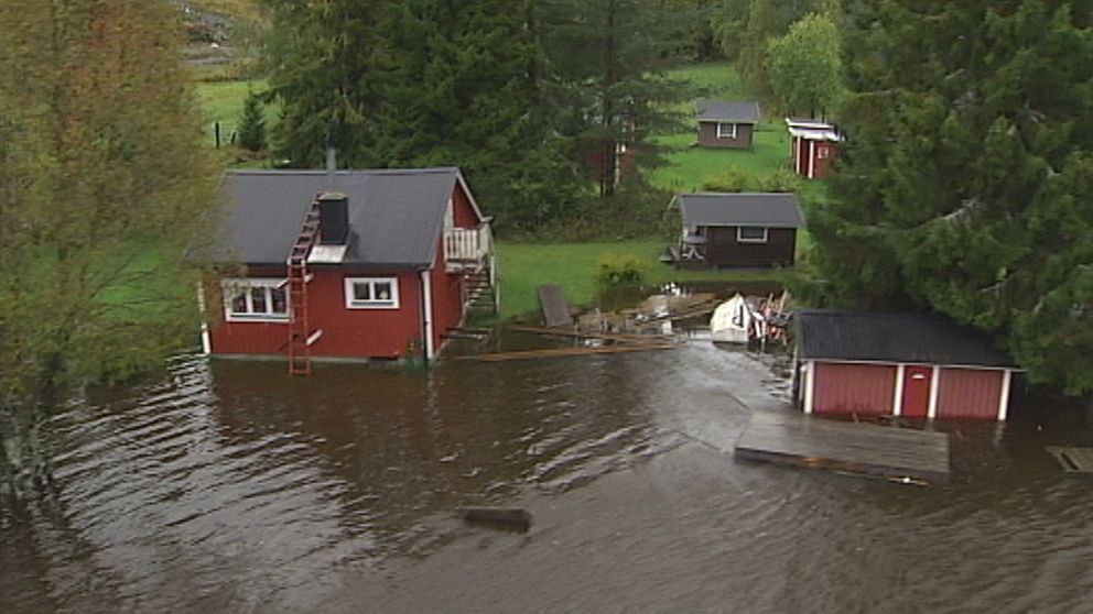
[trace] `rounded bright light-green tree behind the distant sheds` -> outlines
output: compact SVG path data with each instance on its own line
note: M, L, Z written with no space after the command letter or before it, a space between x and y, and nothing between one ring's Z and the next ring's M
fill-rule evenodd
M809 14L767 46L775 96L791 114L825 116L843 91L841 34L835 21Z

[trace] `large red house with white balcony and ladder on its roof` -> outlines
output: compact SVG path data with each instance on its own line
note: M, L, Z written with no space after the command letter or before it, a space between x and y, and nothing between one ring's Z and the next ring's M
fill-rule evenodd
M488 220L457 168L241 171L212 246L207 353L432 359L493 294ZM493 304L496 307L496 303Z

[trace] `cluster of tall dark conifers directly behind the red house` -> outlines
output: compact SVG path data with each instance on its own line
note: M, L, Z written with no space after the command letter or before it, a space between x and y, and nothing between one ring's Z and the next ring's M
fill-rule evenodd
M685 96L661 73L685 11L662 0L263 1L282 157L458 165L502 229L571 215L592 182L610 195L624 144L656 163Z

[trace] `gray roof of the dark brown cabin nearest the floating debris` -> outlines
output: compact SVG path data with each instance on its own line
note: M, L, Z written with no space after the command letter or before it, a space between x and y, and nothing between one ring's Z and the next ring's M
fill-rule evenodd
M683 223L696 226L762 226L803 228L804 213L797 195L769 194L681 194Z

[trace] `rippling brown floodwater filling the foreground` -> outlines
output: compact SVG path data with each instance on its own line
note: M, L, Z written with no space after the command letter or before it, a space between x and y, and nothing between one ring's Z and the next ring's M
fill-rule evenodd
M960 424L955 480L735 462L784 365L679 350L422 371L177 360L55 420L0 612L1090 612L1082 413ZM462 505L526 507L526 534Z

